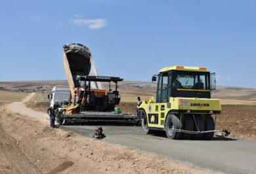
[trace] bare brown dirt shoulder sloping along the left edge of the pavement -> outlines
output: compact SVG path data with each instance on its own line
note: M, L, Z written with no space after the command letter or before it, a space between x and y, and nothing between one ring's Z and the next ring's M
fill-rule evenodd
M205 173L131 147L51 130L48 122L7 109L0 109L0 173Z

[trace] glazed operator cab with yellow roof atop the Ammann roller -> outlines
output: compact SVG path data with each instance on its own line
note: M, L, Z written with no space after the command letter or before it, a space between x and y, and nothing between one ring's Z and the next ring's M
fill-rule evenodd
M216 86L215 73L204 67L165 67L152 77L152 81L157 79L156 102L169 102L169 97L211 98Z

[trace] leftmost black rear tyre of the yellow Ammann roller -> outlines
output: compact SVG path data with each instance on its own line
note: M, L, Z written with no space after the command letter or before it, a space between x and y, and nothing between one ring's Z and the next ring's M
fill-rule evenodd
M165 132L169 139L179 139L181 132L175 131L181 128L181 121L174 114L169 114L165 120Z

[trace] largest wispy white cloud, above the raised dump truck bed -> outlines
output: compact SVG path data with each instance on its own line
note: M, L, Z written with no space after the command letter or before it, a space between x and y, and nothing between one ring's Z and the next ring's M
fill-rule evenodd
M106 20L104 19L77 18L72 20L72 23L76 26L88 26L89 29L99 29L106 26Z

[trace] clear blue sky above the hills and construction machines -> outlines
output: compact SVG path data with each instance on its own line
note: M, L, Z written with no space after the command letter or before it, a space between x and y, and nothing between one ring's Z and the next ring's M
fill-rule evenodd
M255 0L0 1L0 81L66 79L62 44L91 49L100 75L149 81L171 65L207 67L256 88Z

